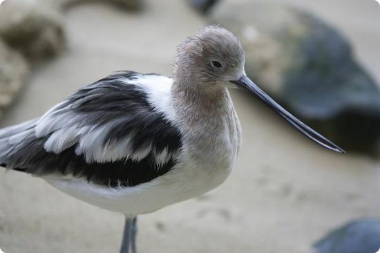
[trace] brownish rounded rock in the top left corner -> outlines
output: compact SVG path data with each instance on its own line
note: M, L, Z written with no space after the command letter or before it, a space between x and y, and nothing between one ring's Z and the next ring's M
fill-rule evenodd
M61 52L65 45L62 23L55 8L37 0L5 1L0 8L0 36L33 61Z

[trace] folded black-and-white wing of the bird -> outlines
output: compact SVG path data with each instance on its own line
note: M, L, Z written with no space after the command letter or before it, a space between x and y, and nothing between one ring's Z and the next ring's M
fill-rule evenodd
M36 176L133 186L167 173L181 148L171 123L171 79L120 72L45 115L0 130L0 164Z

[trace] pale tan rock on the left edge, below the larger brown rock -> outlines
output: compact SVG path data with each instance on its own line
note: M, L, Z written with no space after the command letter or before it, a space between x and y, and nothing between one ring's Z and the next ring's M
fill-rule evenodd
M28 70L23 56L0 40L0 115L19 93Z

